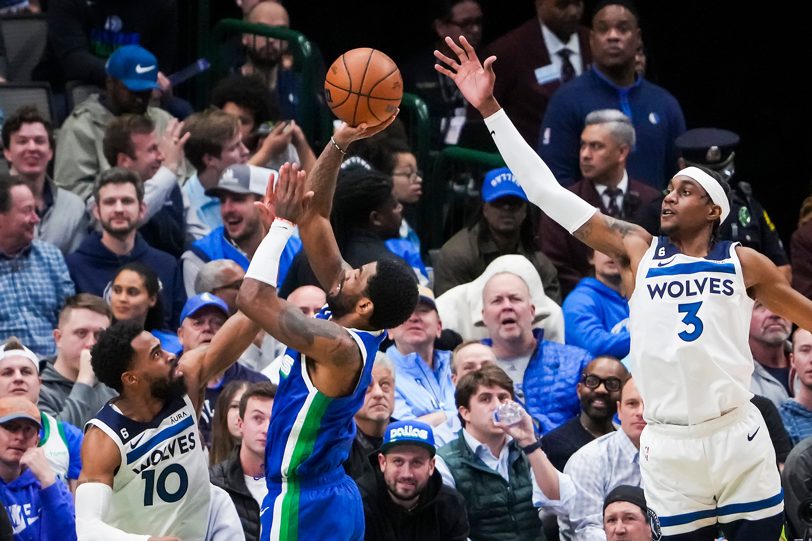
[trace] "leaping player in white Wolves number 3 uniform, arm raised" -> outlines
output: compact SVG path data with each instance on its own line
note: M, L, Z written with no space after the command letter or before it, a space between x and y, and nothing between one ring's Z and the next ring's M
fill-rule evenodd
M640 470L663 539L715 539L718 527L730 540L779 539L784 503L775 451L749 403L749 318L758 299L810 329L812 301L765 256L715 239L730 188L714 171L688 167L674 176L658 238L562 188L496 102L496 58L483 66L464 37L464 50L446 41L459 61L434 51L453 71L435 67L485 117L528 199L620 264L631 294L632 373L646 404Z

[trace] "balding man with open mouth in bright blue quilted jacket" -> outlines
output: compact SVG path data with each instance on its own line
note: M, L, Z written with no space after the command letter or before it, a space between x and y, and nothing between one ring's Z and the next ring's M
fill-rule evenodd
M496 365L513 381L516 401L546 434L581 411L576 385L593 356L544 340L544 331L533 328L535 314L527 283L518 275L500 272L482 289L482 322L489 335L482 344L493 348Z

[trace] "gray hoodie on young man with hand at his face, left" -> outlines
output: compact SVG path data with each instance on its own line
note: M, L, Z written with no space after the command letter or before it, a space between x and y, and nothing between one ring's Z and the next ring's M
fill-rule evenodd
M104 383L96 382L93 387L84 383L74 383L54 370L56 356L46 357L40 372L39 409L50 413L58 421L67 421L84 430L84 425L99 409L114 396L119 396Z

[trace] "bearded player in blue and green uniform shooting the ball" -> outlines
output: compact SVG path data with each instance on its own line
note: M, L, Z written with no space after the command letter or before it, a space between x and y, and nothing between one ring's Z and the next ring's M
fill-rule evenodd
M383 329L412 314L417 280L410 269L388 259L361 269L348 266L330 227L330 208L341 149L381 131L392 119L369 129L343 125L310 172L309 192L304 172L286 164L275 197L269 186L264 205L258 203L276 219L251 260L237 305L289 346L266 444L268 495L260 511L265 541L364 538L361 495L341 463L355 437L352 416L364 403ZM316 318L276 296L279 256L293 223L299 224L304 251L327 292L329 310Z

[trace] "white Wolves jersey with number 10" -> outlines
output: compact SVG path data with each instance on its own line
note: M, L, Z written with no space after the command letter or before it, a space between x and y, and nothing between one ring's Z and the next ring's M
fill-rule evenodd
M209 468L189 397L167 400L152 422L133 421L108 402L84 430L91 425L105 431L121 451L105 522L128 534L203 541Z

